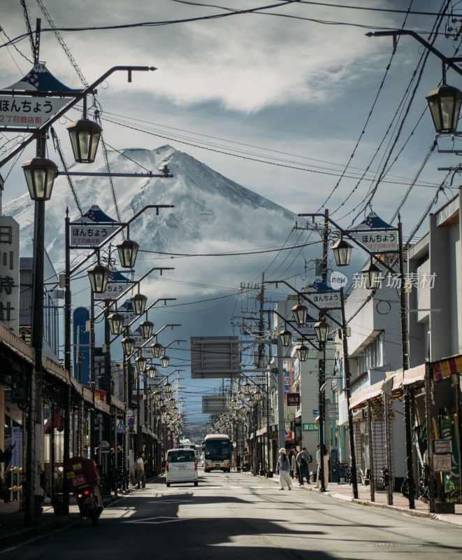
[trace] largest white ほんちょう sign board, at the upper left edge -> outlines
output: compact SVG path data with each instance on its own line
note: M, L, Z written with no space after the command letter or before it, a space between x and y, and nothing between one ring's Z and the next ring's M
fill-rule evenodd
M0 126L38 128L70 99L0 95Z

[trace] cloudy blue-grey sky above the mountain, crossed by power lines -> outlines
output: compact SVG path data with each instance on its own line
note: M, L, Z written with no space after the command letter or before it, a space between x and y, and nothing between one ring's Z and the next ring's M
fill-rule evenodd
M6 87L31 69L31 48L27 36L1 47L26 31L20 2L2 6ZM325 204L345 228L370 208L391 221L399 206L405 234L445 179L438 167L457 163L437 151L426 161L435 133L425 95L440 82L438 59L424 59L412 38L400 38L393 54L390 37L365 34L404 27L428 39L436 29L435 47L452 56L460 39L445 31L459 27L458 2L48 0L45 6L88 83L112 66L157 68L133 73L132 83L115 73L99 87L108 147L170 144L295 213L324 211ZM29 0L27 7L33 28L41 18L41 62L66 85L81 87L38 3ZM461 87L452 71L447 81ZM64 146L66 124L59 130ZM8 153L16 139L1 134L1 152ZM32 155L29 147L0 170L4 201L25 192L20 165ZM438 205L458 185L456 176ZM417 235L425 231L426 223Z

